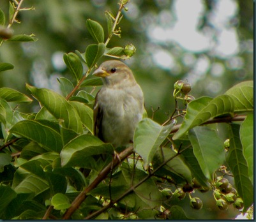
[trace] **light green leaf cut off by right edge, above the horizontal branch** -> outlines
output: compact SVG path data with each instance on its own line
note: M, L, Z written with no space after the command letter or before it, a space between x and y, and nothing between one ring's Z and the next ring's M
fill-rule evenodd
M234 100L234 112L253 112L253 81L240 82L225 94Z

